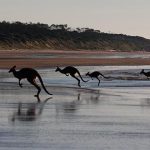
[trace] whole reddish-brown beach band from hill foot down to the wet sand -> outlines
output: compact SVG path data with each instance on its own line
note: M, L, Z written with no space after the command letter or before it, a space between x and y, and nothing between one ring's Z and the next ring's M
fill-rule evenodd
M16 65L22 67L56 67L56 66L108 66L108 65L150 65L149 58L91 58L91 55L113 56L114 54L150 54L149 52L112 52L112 51L63 51L63 50L0 50L0 69L9 69ZM38 55L38 58L34 58ZM53 58L44 58L53 55ZM86 55L86 57L85 57ZM63 57L61 57L63 56ZM66 56L66 57L65 57ZM69 57L68 57L69 56ZM72 57L76 56L75 58ZM78 57L79 56L79 57Z

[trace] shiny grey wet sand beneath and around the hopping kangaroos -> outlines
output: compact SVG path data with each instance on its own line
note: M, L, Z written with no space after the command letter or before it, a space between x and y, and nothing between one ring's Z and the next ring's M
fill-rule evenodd
M150 81L139 75L149 66L82 66L111 78L88 83L38 69L49 98L23 80L18 86L7 69L0 70L0 149L4 150L148 150L150 147ZM89 79L89 78L86 78ZM21 108L20 108L21 105ZM20 115L18 109L21 109ZM34 115L29 115L32 109ZM28 114L28 115L27 115Z

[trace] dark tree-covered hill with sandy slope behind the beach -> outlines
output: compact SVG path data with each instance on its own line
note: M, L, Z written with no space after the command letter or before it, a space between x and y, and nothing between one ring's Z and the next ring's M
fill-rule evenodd
M67 25L0 22L0 49L150 50L150 40Z

